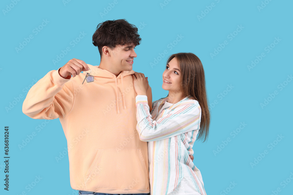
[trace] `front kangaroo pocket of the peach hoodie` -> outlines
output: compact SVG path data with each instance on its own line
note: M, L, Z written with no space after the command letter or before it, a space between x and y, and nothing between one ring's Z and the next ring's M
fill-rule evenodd
M88 191L98 189L149 189L147 167L141 149L99 149L85 175Z

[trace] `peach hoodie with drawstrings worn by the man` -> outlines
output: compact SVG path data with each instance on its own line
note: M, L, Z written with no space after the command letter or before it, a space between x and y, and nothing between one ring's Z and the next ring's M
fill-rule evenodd
M29 90L23 113L35 119L59 118L67 139L73 189L108 194L149 193L147 142L136 125L136 93L131 71L117 77L89 65L71 79L52 70ZM151 108L151 88L147 91Z

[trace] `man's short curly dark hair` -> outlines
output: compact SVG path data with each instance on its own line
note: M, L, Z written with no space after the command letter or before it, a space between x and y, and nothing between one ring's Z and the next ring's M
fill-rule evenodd
M113 49L116 45L134 44L137 46L142 40L137 33L137 27L125 19L107 20L98 24L93 34L93 45L99 49L102 58L103 46Z

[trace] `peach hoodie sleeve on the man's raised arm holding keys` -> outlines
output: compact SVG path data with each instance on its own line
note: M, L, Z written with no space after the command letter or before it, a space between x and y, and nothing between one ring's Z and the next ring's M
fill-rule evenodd
M34 119L64 118L74 102L71 79L52 70L30 88L22 106L25 115Z

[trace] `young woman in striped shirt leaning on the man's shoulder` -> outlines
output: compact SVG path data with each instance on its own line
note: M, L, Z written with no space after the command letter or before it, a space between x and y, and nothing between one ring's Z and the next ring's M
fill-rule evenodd
M153 102L149 112L148 80L135 73L137 132L148 141L151 195L206 194L200 170L189 155L197 137L208 137L210 114L205 74L200 59L192 53L169 57L163 72L166 98Z

